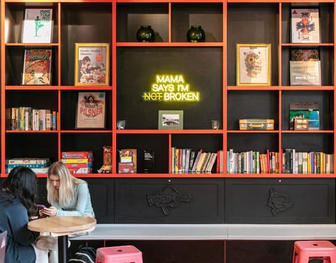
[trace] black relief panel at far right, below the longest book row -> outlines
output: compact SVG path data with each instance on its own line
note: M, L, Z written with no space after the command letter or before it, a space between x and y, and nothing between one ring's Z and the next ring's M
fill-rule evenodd
M335 223L332 178L228 178L225 222Z

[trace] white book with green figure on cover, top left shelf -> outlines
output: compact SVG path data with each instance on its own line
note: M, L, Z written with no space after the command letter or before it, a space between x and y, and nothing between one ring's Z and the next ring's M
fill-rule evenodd
M52 9L26 8L22 43L51 43Z

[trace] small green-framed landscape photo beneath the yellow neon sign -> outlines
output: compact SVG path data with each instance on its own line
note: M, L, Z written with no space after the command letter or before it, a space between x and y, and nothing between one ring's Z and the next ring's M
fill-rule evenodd
M159 129L183 129L183 111L159 111Z

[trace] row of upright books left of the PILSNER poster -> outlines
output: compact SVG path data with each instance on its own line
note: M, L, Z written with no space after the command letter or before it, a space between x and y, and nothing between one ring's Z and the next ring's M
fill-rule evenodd
M6 108L6 129L55 131L57 129L57 112L31 107Z

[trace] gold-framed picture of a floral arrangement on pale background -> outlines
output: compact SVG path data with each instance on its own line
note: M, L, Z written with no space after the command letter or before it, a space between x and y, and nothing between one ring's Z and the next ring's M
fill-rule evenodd
M236 44L237 86L271 85L271 44Z

